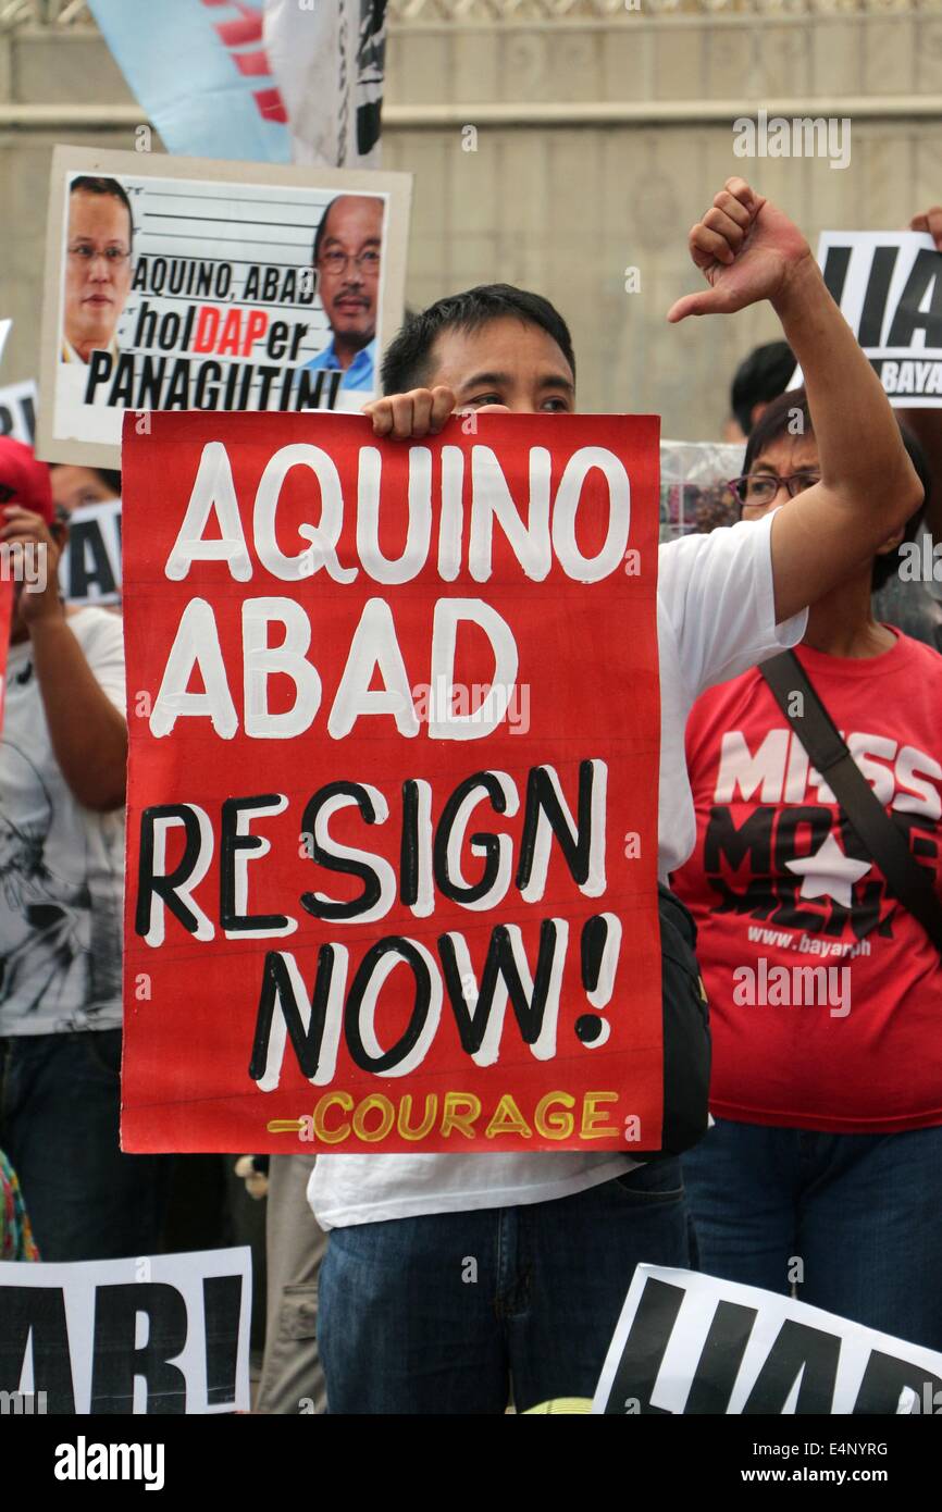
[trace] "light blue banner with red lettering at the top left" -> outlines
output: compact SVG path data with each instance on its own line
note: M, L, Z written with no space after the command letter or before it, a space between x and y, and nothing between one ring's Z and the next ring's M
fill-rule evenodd
M88 0L88 8L168 153L290 162L262 0Z

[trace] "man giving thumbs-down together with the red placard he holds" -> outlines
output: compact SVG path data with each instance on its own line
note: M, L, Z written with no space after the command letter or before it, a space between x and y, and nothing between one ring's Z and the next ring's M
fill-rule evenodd
M771 301L823 478L759 525L661 550L658 650L656 425L553 419L575 413L575 357L535 295L470 290L410 322L387 352L390 396L367 407L372 448L336 417L278 419L290 445L274 455L245 419L219 417L212 442L198 416L154 416L142 443L125 423L139 499L129 665L144 700L125 1143L259 1148L265 1093L268 1148L289 1131L316 1145L331 1412L591 1396L635 1264L688 1263L677 1160L629 1154L661 1146L655 883L694 842L686 714L703 688L795 644L804 606L853 569L848 540L863 561L918 502L880 384L795 227L730 180L691 253L711 289L670 318ZM481 445L458 445L457 408L487 414ZM318 475L318 528L310 479L292 493L301 464ZM157 503L184 487L183 523L168 523ZM289 555L295 535L307 553ZM487 643L491 689L455 712ZM420 718L407 679L429 650ZM494 705L517 676L532 683L526 739ZM482 733L479 750L448 744ZM310 918L316 959L301 954ZM246 1081L231 1034L260 953ZM378 1028L396 966L410 987L390 987ZM315 1113L296 1117L304 1092Z

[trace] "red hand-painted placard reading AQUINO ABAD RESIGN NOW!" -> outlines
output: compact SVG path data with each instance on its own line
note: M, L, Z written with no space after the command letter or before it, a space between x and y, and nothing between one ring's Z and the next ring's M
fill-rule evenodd
M122 470L124 1148L656 1148L658 420Z

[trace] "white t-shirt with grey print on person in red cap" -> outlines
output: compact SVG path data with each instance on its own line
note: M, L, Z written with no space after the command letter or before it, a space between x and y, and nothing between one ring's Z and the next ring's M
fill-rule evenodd
M124 631L79 609L68 624L124 714ZM0 738L0 1034L121 1024L124 809L94 813L65 782L30 641L11 646Z

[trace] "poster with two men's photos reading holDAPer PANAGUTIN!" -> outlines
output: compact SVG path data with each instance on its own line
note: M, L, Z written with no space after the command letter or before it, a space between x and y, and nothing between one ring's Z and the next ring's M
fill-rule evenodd
M38 451L151 410L360 410L402 322L407 174L53 154Z

